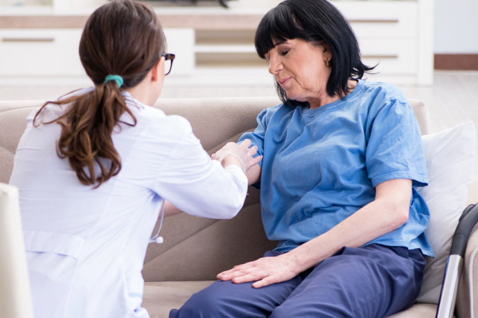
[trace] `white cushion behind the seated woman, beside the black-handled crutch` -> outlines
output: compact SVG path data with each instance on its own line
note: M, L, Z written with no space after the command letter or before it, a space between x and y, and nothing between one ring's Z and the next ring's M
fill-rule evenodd
M430 208L425 234L435 252L427 258L425 278L418 297L438 303L452 236L466 205L475 164L475 126L464 122L451 129L423 136L429 185L418 188Z

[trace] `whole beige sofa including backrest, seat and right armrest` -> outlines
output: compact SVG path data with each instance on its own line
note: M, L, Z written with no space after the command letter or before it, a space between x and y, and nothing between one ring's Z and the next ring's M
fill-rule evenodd
M25 128L25 118L42 101L0 101L0 182L8 183L12 160ZM237 140L256 127L256 115L278 104L274 97L200 98L159 100L157 107L168 114L187 118L204 149L213 153L229 140ZM427 109L411 100L422 133L428 133ZM432 212L433 213L433 212ZM215 275L233 265L257 259L275 247L268 241L260 220L259 193L250 188L242 211L231 220L212 220L179 214L166 218L162 244L150 244L145 257L143 306L151 317L168 317L188 297L206 286ZM478 233L470 238L466 268L461 277L457 316L472 317L472 303L478 303ZM477 307L477 306L475 306ZM436 305L416 303L393 317L435 317ZM478 311L475 308L475 311ZM291 313L291 317L292 317Z

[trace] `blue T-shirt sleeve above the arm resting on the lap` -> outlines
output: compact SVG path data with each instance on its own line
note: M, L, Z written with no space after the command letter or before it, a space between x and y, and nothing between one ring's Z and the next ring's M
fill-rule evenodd
M369 122L366 168L373 187L392 179L427 185L420 127L411 106L398 100L385 102Z

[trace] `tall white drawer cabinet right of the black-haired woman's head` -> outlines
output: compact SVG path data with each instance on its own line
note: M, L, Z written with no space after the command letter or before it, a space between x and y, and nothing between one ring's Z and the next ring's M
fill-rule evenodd
M433 0L333 1L350 22L371 79L433 82Z

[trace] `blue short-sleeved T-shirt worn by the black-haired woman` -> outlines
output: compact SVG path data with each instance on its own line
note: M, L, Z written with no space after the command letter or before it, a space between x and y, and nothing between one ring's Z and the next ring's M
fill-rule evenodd
M427 185L420 128L393 85L359 80L344 99L317 109L280 104L245 133L263 155L260 201L267 237L287 252L327 232L375 198L375 186L413 181L407 223L369 242L420 248L430 212L415 187ZM367 245L368 245L367 244Z

